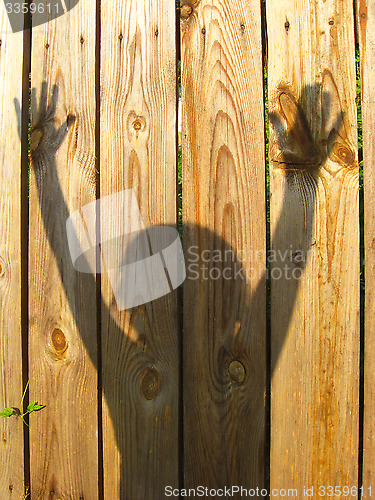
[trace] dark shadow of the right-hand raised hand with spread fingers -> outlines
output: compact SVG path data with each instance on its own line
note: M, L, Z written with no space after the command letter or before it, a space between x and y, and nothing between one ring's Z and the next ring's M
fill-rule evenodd
M310 124L304 112L308 106ZM355 149L348 140L345 114L329 71L324 72L322 84L305 86L299 101L289 88L280 88L277 107L269 114L277 139L271 142L270 161L283 168L289 180L296 173L316 180L328 158L341 166L355 166Z

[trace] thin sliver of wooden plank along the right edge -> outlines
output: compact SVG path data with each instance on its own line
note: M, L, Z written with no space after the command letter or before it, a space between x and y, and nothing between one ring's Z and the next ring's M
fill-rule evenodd
M375 484L375 89L373 73L375 64L375 5L365 0L356 3L358 35L361 56L362 130L365 206L365 407L363 440L364 499L370 498Z

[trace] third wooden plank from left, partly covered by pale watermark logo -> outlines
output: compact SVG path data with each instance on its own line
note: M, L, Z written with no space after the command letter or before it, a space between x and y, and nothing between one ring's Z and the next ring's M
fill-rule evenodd
M173 1L102 2L100 127L101 197L132 189L148 234L175 227ZM105 273L102 294L104 495L162 498L178 484L176 294L120 311Z

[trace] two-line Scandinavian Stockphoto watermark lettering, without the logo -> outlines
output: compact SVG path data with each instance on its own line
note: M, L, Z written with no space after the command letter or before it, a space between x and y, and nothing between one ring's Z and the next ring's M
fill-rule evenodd
M309 252L295 250L185 249L186 279L249 280L266 276L272 280L299 280ZM268 266L265 268L266 262Z

